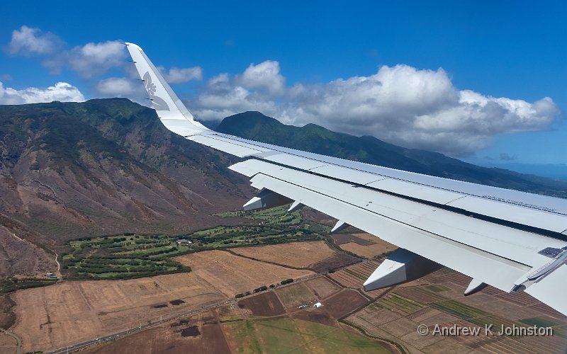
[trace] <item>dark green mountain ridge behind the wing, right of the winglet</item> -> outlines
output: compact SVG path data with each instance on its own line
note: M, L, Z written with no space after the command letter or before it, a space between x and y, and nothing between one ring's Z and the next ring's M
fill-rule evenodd
M417 149L405 149L375 137L353 137L315 124L283 125L259 112L231 115L217 130L282 147L377 164L431 176L567 198L567 183L504 169L489 169Z

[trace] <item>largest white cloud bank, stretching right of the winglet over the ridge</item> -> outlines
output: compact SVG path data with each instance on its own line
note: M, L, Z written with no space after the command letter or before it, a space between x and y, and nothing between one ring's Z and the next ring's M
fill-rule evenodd
M314 122L352 135L452 156L487 147L495 135L548 130L560 111L554 101L495 98L459 90L443 69L383 66L376 74L288 87L279 63L220 74L189 102L198 118L221 119L259 110L281 122Z

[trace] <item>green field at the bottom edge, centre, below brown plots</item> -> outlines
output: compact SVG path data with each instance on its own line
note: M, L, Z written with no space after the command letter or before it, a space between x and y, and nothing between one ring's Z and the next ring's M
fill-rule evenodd
M300 319L247 319L223 327L238 353L390 353L357 333Z

